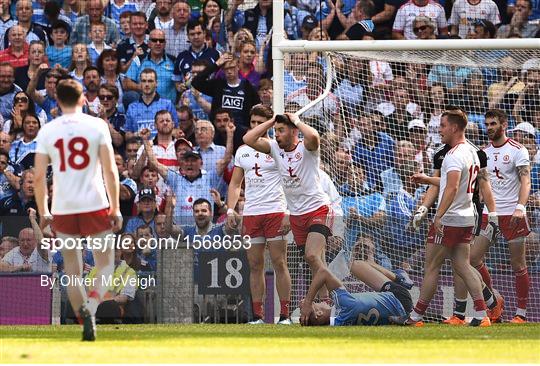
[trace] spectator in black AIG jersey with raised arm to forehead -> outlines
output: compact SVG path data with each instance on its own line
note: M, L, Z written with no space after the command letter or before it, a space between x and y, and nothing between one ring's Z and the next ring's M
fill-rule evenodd
M225 80L209 79L210 75L223 67ZM215 64L208 66L192 81L192 85L200 92L212 97L210 118L215 118L218 109L230 110L238 125L248 126L249 111L260 103L253 86L238 77L238 60L230 53L224 53Z

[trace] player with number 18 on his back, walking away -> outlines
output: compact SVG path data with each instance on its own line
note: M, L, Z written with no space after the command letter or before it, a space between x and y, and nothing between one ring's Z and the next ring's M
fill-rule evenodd
M94 244L103 243L122 227L111 135L103 120L82 113L85 98L78 82L60 81L56 94L63 115L43 126L37 137L34 179L41 226L51 222L52 212L52 229L64 243L68 238L88 236ZM49 163L54 174L51 212L46 183ZM97 280L88 298L84 286L76 280L82 278L80 251L62 249L65 273L75 279L67 286L67 292L83 324L83 341L95 340L96 309L107 291L105 280L114 269L113 242L93 252Z

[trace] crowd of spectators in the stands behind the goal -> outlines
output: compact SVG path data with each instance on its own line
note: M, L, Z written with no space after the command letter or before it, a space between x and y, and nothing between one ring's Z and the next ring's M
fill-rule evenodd
M56 84L68 77L84 86L84 112L109 126L123 235L135 243L222 233L234 153L250 117L271 116L271 0L3 0L0 17L0 271L62 269L60 253L36 246L46 233L34 223L32 164L40 126L61 114ZM289 39L329 41L532 38L540 36L540 1L291 0L285 28ZM344 242L357 255L414 267L424 236L407 224L423 190L409 177L431 171L448 104L468 113L468 136L480 146L486 110L507 112L510 135L531 156L528 212L538 230L540 59L496 57L501 67L492 69L337 61L331 95L302 117L322 135L321 169L340 195ZM325 64L292 54L286 70L295 111L320 94ZM530 244L532 264L538 232ZM91 254L84 258L90 272ZM139 272L157 266L155 251L135 247L118 260Z

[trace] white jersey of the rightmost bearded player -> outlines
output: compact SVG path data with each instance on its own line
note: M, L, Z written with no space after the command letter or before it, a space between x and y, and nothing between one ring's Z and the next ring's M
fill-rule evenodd
M489 144L484 149L491 190L499 215L512 215L519 198L521 182L518 167L529 166L529 152L515 140L507 139L501 146ZM487 208L484 208L487 213Z

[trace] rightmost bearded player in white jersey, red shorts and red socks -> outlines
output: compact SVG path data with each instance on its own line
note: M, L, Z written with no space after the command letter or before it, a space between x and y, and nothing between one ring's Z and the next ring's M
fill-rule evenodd
M529 274L525 261L525 238L529 235L525 204L531 189L530 162L527 149L506 136L508 118L502 110L486 112L485 124L491 143L484 149L487 169L497 205L500 230L508 242L510 263L516 276L517 309L511 323L525 323L529 297ZM492 288L491 276L484 264L486 252L496 241L488 225L488 213L484 209L481 236L471 248L471 264L480 272L482 279ZM462 281L456 281L456 298L466 304L467 292ZM459 305L456 302L456 305ZM497 321L493 318L492 321Z

